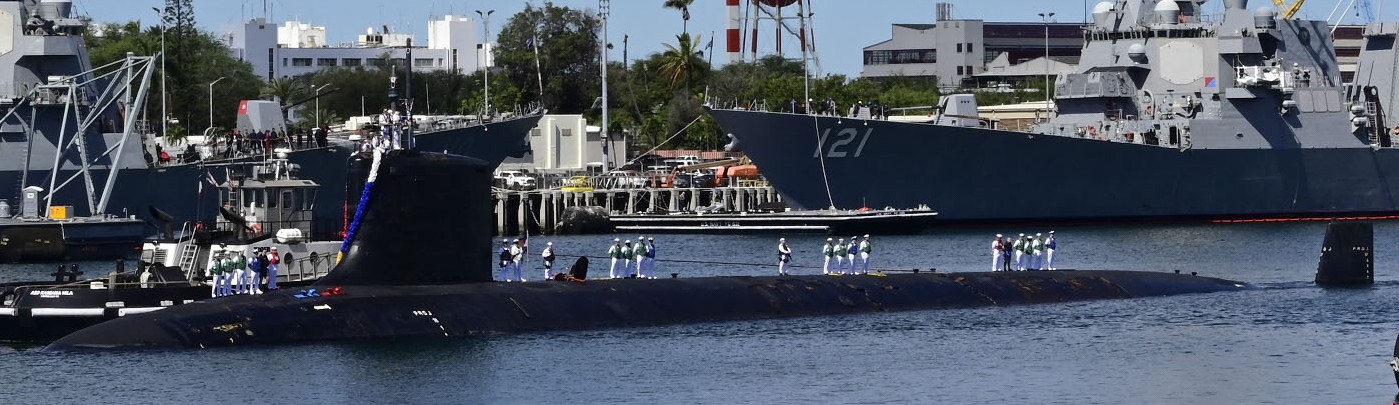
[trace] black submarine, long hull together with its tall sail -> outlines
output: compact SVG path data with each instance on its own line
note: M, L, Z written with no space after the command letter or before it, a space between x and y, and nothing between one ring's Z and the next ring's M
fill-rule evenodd
M80 329L48 350L215 348L1133 298L1249 289L1132 270L492 282L491 167L411 149L348 161L360 205L316 283ZM442 210L442 206L452 209Z

